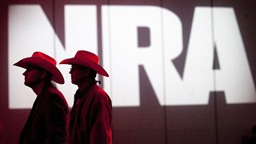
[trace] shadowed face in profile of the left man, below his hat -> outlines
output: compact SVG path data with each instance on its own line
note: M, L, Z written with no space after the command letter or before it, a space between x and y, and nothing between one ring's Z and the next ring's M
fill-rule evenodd
M24 84L29 87L37 86L41 82L42 70L37 66L28 66L23 73L25 76Z

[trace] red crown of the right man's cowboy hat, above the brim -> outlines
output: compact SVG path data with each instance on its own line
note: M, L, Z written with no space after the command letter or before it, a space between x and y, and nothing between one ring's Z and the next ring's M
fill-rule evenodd
M99 62L99 58L96 54L86 50L78 50L77 54L74 55L74 58L82 58L95 63Z

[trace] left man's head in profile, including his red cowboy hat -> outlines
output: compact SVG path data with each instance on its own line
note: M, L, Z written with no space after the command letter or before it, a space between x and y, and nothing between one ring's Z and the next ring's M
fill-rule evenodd
M42 52L34 52L31 57L23 58L14 63L14 66L26 69L23 73L26 86L32 87L36 86L39 82L50 82L51 80L59 84L64 83L64 78L56 67L54 58Z

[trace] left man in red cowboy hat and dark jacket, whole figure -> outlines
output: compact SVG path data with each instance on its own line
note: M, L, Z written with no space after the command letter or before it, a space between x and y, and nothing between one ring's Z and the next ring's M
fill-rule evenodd
M66 143L69 109L62 93L51 83L51 80L64 83L54 58L34 52L32 57L23 58L14 66L26 69L24 84L37 94L19 143Z

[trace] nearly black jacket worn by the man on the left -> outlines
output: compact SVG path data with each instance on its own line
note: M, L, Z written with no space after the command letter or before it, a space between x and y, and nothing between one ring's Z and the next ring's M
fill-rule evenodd
M69 109L66 99L54 86L47 85L34 101L20 134L20 144L66 143Z

